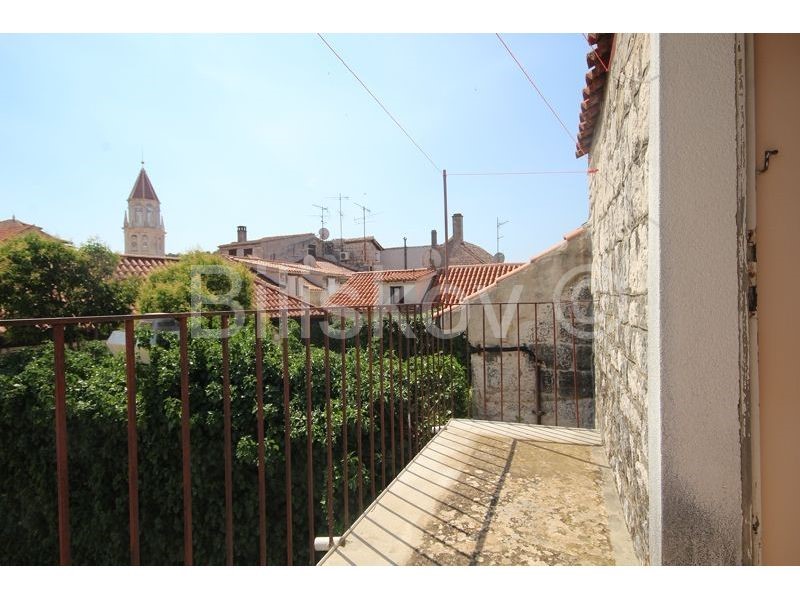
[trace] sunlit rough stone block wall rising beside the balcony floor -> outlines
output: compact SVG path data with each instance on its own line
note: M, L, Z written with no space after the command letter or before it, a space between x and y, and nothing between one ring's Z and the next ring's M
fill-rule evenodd
M589 181L597 424L640 560L649 562L647 239L650 40L617 34Z

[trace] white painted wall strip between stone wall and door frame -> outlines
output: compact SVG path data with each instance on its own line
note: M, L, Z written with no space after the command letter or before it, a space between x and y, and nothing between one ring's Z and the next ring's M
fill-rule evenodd
M739 563L735 36L653 36L650 558Z

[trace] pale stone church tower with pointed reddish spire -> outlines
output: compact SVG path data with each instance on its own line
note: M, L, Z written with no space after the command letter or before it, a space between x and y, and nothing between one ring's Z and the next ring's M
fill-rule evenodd
M161 218L161 204L144 170L144 163L128 196L122 229L125 232L125 254L164 256L166 231Z

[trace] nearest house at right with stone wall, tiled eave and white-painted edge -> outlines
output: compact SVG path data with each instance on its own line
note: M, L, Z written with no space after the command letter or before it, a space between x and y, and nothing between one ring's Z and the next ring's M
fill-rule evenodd
M800 36L590 41L597 426L636 552L799 564Z

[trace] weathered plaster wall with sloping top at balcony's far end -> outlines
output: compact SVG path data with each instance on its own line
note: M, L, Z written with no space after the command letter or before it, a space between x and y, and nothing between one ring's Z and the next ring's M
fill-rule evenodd
M588 230L576 230L467 300L473 416L536 423L539 411L545 425L594 427L591 248ZM578 301L574 327L570 305L554 307L554 300ZM517 303L526 303L519 304L519 317Z

